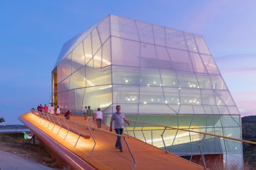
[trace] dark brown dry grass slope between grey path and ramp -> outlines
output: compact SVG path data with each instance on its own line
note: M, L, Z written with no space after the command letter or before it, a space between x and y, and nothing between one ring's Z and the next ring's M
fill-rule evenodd
M0 150L58 169L55 161L41 144L29 144L22 135L17 137L17 135L0 134Z

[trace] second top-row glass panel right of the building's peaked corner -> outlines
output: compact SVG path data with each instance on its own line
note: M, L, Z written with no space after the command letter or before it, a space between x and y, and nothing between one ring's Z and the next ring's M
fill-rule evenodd
M140 41L144 43L154 43L154 34L152 24L136 21Z

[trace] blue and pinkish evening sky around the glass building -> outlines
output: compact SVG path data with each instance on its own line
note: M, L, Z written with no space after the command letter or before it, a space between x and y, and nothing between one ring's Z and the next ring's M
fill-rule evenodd
M256 115L254 0L5 0L0 4L0 117L51 95L62 45L108 14L203 35L242 114Z

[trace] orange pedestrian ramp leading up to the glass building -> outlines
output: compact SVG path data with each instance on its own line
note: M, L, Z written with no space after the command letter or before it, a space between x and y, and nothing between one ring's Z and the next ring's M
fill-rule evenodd
M46 113L19 117L59 164L72 170L203 170L204 168L143 141L87 126L83 117L70 120ZM107 128L107 127L105 127ZM115 147L120 137L123 152Z

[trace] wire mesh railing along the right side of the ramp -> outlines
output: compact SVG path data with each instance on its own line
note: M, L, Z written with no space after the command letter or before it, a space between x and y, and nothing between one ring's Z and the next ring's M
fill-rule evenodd
M109 117L104 115L105 120ZM166 153L186 158L205 169L254 170L256 166L256 142L222 136L220 131L211 134L149 122L128 121L133 125L125 126L124 133L128 136L157 146Z

